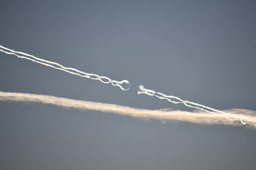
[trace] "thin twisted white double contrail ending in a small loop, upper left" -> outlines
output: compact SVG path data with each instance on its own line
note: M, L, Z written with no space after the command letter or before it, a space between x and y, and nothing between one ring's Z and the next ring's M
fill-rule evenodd
M57 62L52 62L52 61L49 61L49 60L40 59L40 58L35 57L33 55L30 55L28 53L17 52L15 50L12 50L10 48L6 48L6 47L1 46L1 45L0 45L0 51L4 52L6 54L9 54L9 55L15 55L16 57L19 57L20 59L31 60L31 61L36 62L38 64L42 64L44 66L49 66L49 67L52 67L54 69L59 69L59 70L65 71L65 72L70 73L70 74L74 74L74 75L85 77L85 78L90 78L92 80L99 80L100 82L106 83L106 84L111 83L111 85L120 87L120 89L122 89L122 90L129 90L130 89L130 83L129 83L128 80L116 81L116 80L111 80L110 78L108 78L106 76L99 76L97 74L85 73L83 71L79 71L78 69L75 69L75 68L72 68L72 67L65 67L65 66L62 66L61 64L58 64ZM128 87L123 87L123 84L124 85L126 84Z

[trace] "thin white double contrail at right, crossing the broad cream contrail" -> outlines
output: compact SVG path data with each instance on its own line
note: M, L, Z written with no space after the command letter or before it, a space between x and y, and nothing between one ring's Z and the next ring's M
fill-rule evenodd
M206 111L207 113L212 113L214 115L220 115L222 117L227 118L228 120L231 121L237 121L239 120L241 122L241 124L252 124L256 126L256 121L252 120L248 117L243 116L243 114L241 115L235 115L232 113L226 113L225 111L221 111L221 110L216 110L214 108L210 108L208 106L204 106L202 104L198 104L198 103L193 103L191 101L184 101L182 99L180 99L179 97L175 97L175 96L166 96L163 93L160 92L155 92L154 90L150 90L150 89L145 89L143 87L143 85L139 86L141 91L138 91L138 94L147 94L148 96L155 96L159 99L166 99L167 101L169 101L170 103L174 103L174 104L179 104L182 103L185 106L188 106L189 108L195 108L197 110L202 110L202 111ZM241 110L243 111L243 110Z

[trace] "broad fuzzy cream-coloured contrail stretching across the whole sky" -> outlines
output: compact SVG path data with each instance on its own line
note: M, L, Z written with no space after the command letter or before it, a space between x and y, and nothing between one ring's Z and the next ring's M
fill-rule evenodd
M67 99L63 97L45 96L38 94L0 92L0 101L16 101L16 102L35 102L44 104L54 104L66 108L77 108L81 110L97 110L102 112L116 113L118 115L128 115L136 118L155 118L163 122L191 122L195 124L222 124L222 125L243 125L239 121L232 121L223 118L223 115L212 114L207 111L179 111L179 110L146 110L139 108L131 108L128 106L120 106L116 104L95 103L90 101L81 101ZM256 121L255 111L250 110L228 110L236 117L246 117L251 121ZM242 114L243 113L243 114ZM250 124L248 124L250 125Z

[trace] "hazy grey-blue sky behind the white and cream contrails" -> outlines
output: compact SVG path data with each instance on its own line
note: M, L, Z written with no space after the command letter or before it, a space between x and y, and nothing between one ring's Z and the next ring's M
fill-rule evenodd
M131 90L0 53L0 90L136 108L256 110L255 1L1 1L1 45L131 81ZM0 169L256 169L256 131L0 103Z

